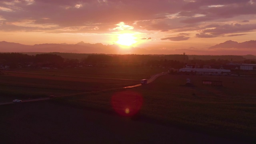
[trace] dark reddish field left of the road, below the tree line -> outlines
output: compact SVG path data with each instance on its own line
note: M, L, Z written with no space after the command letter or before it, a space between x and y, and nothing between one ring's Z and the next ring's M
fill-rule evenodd
M138 84L140 79L160 72L161 68L24 68L2 71L0 101L122 88Z

